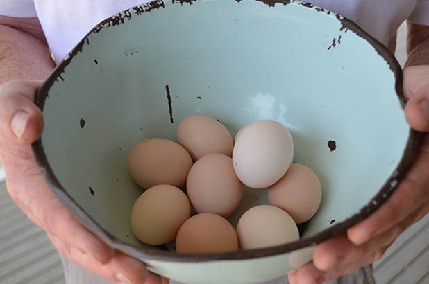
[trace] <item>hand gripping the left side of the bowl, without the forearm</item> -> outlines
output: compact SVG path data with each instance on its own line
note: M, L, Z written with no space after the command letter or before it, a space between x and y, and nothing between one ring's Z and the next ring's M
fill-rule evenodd
M82 227L47 186L31 150L43 129L42 112L33 103L39 85L36 81L0 85L0 157L10 196L72 262L115 283L168 283Z

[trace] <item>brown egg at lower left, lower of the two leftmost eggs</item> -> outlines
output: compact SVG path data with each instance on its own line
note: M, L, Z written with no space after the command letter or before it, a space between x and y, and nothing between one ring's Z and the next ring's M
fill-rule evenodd
M135 236L148 245L162 245L176 237L191 215L191 204L176 186L161 184L144 191L131 211Z

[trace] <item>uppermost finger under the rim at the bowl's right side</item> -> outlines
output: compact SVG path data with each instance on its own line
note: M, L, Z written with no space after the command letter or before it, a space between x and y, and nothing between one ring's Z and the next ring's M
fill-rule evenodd
M429 152L421 151L414 167L389 199L367 219L348 229L347 236L355 245L367 242L404 220L428 198L426 184L429 176Z

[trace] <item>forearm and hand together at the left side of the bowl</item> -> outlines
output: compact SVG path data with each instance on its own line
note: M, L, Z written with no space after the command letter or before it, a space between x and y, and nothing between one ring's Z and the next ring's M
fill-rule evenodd
M168 283L85 229L47 186L31 150L44 124L32 79L49 75L51 56L37 19L0 16L0 42L0 157L12 199L73 263L114 283Z

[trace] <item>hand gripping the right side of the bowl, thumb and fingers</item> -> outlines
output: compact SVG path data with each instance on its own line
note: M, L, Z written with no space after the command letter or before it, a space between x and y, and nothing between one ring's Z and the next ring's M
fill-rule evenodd
M405 117L414 130L429 132L429 65L404 70ZM414 166L389 199L343 236L322 242L313 261L290 272L291 284L323 283L381 258L392 242L429 212L429 133Z

